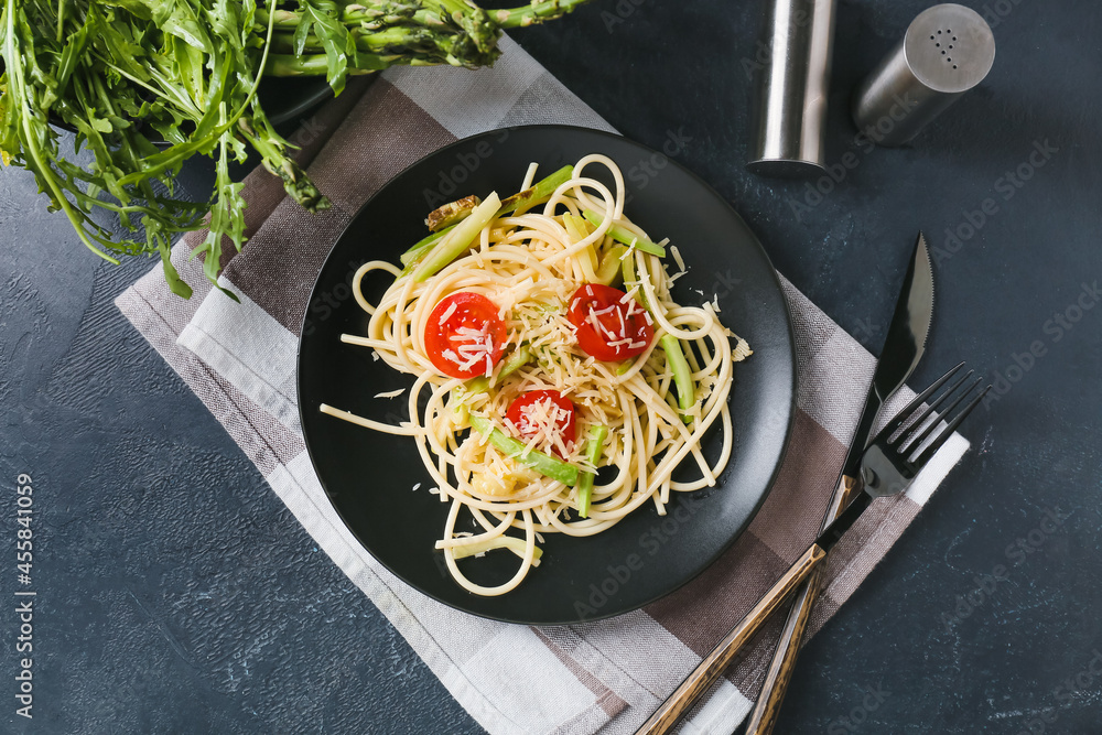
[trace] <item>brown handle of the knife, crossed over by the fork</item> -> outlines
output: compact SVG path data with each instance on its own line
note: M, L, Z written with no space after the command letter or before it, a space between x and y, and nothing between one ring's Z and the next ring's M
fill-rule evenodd
M831 498L827 516L823 518L823 528L830 526L831 521L838 518L850 504L853 494L860 489L861 484L857 479L842 475L834 489L834 497ZM746 725L746 735L769 735L777 724L780 705L785 701L788 683L796 670L796 659L800 653L803 633L811 619L811 608L814 607L815 599L819 597L821 581L822 572L817 571L808 579L803 588L797 593L796 602L788 614L785 628L781 630L777 650L773 655L773 661L770 661L769 670L766 672L761 692L758 694L757 703L754 705L754 711Z

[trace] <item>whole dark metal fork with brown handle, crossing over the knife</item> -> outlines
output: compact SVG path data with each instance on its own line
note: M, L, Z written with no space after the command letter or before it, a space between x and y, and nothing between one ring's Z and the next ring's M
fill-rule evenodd
M761 625L781 606L785 599L797 590L822 564L827 552L838 543L839 539L853 526L854 521L872 504L874 498L895 495L907 489L933 455L937 454L958 426L980 404L991 386L987 386L952 419L952 414L961 403L972 394L983 382L976 380L962 392L960 388L972 377L970 370L958 379L944 393L922 409L923 403L941 389L960 369L963 363L939 378L932 386L922 391L903 411L900 411L869 443L862 457L861 482L863 487L854 487L853 500L845 510L820 534L815 542L785 573L785 575L767 592L734 628L712 649L692 673L681 682L672 694L658 707L647 722L637 731L637 735L658 735L668 732L678 720L692 706L715 681L723 675L724 670L747 641L753 638ZM949 407L938 414L937 410L957 393ZM934 431L944 423L946 426L937 434ZM932 440L931 440L932 436ZM861 491L864 490L864 491ZM795 664L795 657L789 666ZM767 718L774 720L775 718Z

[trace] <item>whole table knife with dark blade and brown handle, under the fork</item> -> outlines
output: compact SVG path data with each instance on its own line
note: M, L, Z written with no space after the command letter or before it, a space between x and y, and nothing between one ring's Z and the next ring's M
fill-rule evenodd
M823 517L820 533L827 530L827 527L849 505L853 495L860 491L861 483L857 475L861 456L872 434L873 422L880 407L907 381L922 358L932 315L933 268L930 264L926 238L919 233L915 253L896 302L895 314L888 326L887 339L884 342L873 382L868 388L865 408L857 420L857 429L842 464L842 471L839 473L834 496ZM769 663L761 693L747 722L746 735L768 735L773 732L780 712L780 703L785 699L796 666L800 641L819 593L820 574L821 572L817 571L796 594L792 609L781 630L777 651Z

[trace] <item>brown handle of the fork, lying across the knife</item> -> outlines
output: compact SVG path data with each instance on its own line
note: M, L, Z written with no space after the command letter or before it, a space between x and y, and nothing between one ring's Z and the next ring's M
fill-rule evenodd
M773 585L769 592L750 608L738 624L731 629L712 652L704 657L692 673L681 682L670 696L662 702L650 718L636 731L636 735L660 735L677 724L678 720L693 705L696 699L715 683L742 647L754 637L761 624L785 602L801 582L819 566L827 552L818 544L812 544L799 561L785 573L785 576Z

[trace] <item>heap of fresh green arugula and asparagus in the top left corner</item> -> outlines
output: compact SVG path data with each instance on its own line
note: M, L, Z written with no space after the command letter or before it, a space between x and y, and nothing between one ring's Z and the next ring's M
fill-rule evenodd
M252 149L303 207L329 206L258 102L263 76L324 75L339 94L349 74L395 65L487 65L503 29L586 1L487 11L462 0L2 0L0 156L34 173L94 252L115 263L160 255L172 291L188 298L169 260L180 234L209 228L193 257L215 283L224 244L245 242L231 160ZM89 150L89 165L62 154L52 123L76 131L74 153ZM196 154L216 161L209 203L173 194ZM91 218L97 208L144 241L114 238Z

